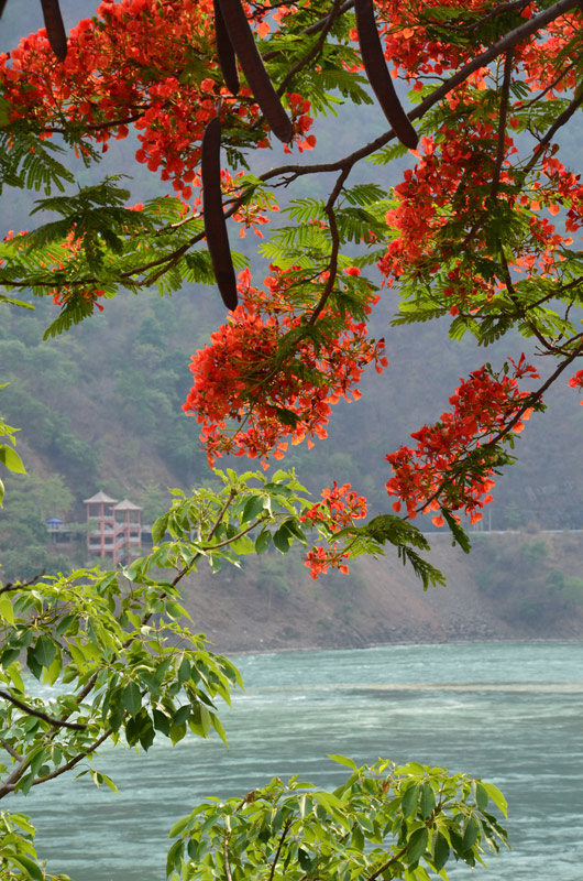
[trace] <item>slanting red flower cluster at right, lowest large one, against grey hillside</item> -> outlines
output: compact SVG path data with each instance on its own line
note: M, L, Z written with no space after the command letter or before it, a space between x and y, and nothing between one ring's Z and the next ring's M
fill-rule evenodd
M481 520L480 509L492 501L493 471L485 457L477 457L466 470L455 466L501 432L522 431L531 410L522 412L528 393L519 391L518 379L538 378L538 373L524 355L514 368L513 377L502 378L486 367L475 370L450 398L453 410L411 435L417 440L415 449L404 446L387 455L394 476L385 486L389 496L399 499L393 504L395 511L400 511L403 503L413 520L419 511L447 508L463 510L472 523ZM433 523L441 526L443 520L436 516Z

